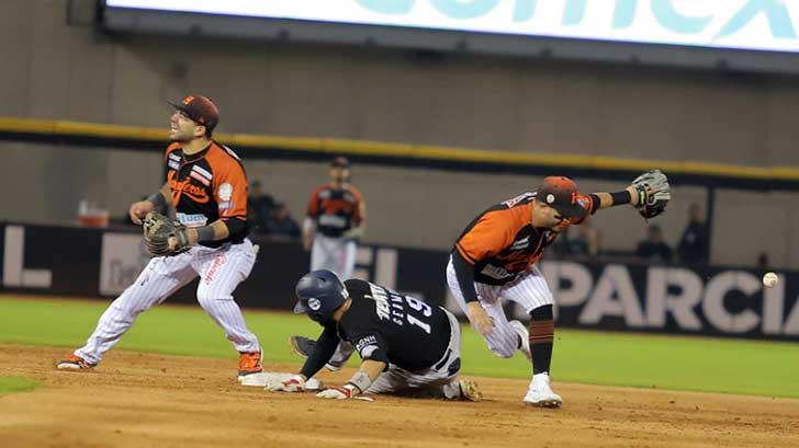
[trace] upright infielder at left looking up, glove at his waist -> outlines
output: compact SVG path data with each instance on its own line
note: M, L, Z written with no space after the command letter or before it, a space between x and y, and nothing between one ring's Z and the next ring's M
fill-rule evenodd
M209 99L195 94L170 104L175 113L169 129L172 143L164 156L167 182L146 200L131 205L130 216L142 225L153 211L175 207L177 220L185 227L169 238L170 255L149 261L105 310L86 345L59 361L58 369L97 366L140 312L200 276L196 299L239 352L239 378L262 370L258 338L233 299L256 260L247 238L247 177L241 160L212 139L218 111Z

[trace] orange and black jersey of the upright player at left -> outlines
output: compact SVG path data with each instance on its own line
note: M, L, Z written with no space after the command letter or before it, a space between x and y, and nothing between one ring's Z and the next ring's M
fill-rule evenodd
M207 226L218 219L227 223L227 239L203 245L241 242L247 237L247 176L241 159L215 141L191 156L175 142L167 147L164 158L178 220L188 227Z

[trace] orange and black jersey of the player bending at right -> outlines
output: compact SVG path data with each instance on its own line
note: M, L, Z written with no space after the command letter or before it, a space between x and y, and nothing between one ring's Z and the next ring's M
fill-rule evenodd
M594 202L586 197L585 206L593 214ZM487 285L513 282L538 262L544 249L558 238L558 232L532 227L534 198L536 192L528 192L488 208L458 238L454 251L473 266L474 282Z

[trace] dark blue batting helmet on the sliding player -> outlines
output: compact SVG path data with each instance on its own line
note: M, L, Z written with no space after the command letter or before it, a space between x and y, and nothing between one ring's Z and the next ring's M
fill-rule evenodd
M349 292L344 284L330 271L313 271L305 274L294 288L297 303L296 314L306 313L311 320L327 322L333 313L347 300Z

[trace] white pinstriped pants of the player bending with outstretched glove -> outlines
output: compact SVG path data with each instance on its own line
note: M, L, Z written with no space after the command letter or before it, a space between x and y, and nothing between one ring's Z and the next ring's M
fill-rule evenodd
M452 265L451 256L449 264L447 264L447 284L461 310L465 313L466 300L463 298L458 277L455 277L455 268ZM494 286L475 282L474 288L480 305L488 317L494 320L494 330L488 335L481 334L481 336L488 343L488 348L503 358L514 356L516 351L519 349L519 335L510 326L500 299L504 298L519 303L527 314L530 314L530 311L536 308L554 303L547 279L534 264L511 283Z

